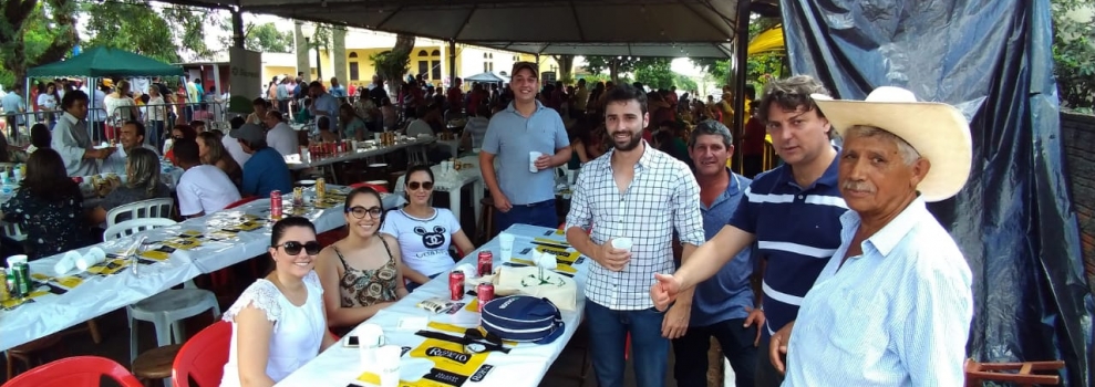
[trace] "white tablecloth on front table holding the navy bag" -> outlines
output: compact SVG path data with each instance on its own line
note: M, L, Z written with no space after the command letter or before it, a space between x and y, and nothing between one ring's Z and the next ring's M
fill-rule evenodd
M533 247L531 243L534 238L547 238L558 241L565 240L564 236L556 233L552 229L526 224L515 224L507 229L506 232L514 233L517 237L514 242L514 255L517 258L528 258L529 254L523 254L521 251L526 248ZM484 249L495 252L495 268L498 268L502 262L504 262L503 258L498 254L500 249L498 245L498 240L495 238L486 245L465 257L459 263L475 262L478 251ZM559 354L562 352L564 347L566 347L567 342L574 337L575 331L581 323L581 316L586 304L586 299L581 293L581 289L583 287L586 281L588 265L588 259L582 263L575 265L575 269L578 270L577 275L575 275L575 280L578 282L579 289L578 303L576 310L562 311L562 320L566 324L566 331L561 337L550 344L544 345L520 343L508 354L492 352L487 355L485 364L493 365L494 368L492 368L481 380L472 381L469 379L462 386L510 387L539 385L540 379L543 379L544 375L547 374L551 363L559 357ZM399 328L400 322L406 317L427 317L431 322L448 323L466 327L477 325L477 323L468 324L467 322L477 322L478 313L462 310L454 315L433 314L415 306L419 302L430 297L443 297L447 300L447 275L438 275L433 281L430 281L422 287L415 290L407 297L400 300L397 303L389 306L388 308L384 308L372 318L368 320L366 323L378 324L383 327L384 336L389 344L411 348L417 347L422 344L422 342L425 341L425 337L415 335L414 333L416 331ZM465 296L464 302L469 302L471 300L471 296ZM360 356L359 349L348 348L342 344L335 344L300 369L297 369L297 372L289 375L289 377L281 380L277 386L372 386L371 384L358 380L364 372L361 366ZM425 373L430 372L430 368L433 365L433 360L430 360L428 358L411 357L406 354L403 355L400 362L400 379L403 381L401 386L414 385L416 381L422 379L422 376Z

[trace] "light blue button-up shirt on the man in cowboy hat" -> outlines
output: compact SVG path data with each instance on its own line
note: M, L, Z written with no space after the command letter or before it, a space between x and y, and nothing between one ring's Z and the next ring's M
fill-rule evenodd
M783 386L962 386L973 293L954 240L918 198L844 261L859 215L840 223L840 248L798 311Z

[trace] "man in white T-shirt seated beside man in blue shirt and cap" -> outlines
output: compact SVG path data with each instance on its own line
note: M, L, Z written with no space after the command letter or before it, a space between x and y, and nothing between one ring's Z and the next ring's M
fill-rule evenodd
M225 171L217 166L203 165L198 157L198 143L176 139L172 147L176 163L183 170L178 179L178 212L187 218L220 211L239 200L239 190Z

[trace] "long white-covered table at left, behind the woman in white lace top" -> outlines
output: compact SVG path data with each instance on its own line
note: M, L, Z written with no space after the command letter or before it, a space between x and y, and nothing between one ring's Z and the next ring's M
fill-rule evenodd
M344 191L344 188L340 187L329 186L329 188L331 191ZM290 198L286 197L286 199ZM395 208L403 202L403 198L397 195L388 195L383 198L384 208ZM137 236L147 237L146 241L149 242L162 241L185 231L199 231L208 236L208 232L221 229L228 220L239 218L244 213L268 219L269 208L270 200L260 199L235 209L188 219L178 224L148 230L114 242L99 243L95 247L107 253L116 253L132 244ZM339 205L328 209L312 209L302 216L316 224L318 232L324 232L343 226L345 219L342 215L342 206ZM219 241L205 239L196 248L177 250L165 261L138 265L137 273L133 273L128 268L106 276L82 273L80 275L83 276L83 283L63 294L51 293L38 296L33 302L10 311L0 308L0 351L136 303L199 274L211 273L262 254L270 244L271 226L272 223L265 223L258 229L238 232L230 239ZM86 247L78 252L83 254L91 248ZM31 274L41 273L52 276L53 266L62 257L58 254L31 262ZM69 274L73 275L72 272ZM55 282L51 284L56 285Z

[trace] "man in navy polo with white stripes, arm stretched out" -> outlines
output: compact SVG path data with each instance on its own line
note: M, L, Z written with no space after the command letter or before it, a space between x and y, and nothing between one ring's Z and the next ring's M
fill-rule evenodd
M765 258L762 299L765 318L760 347L795 320L803 297L840 245L840 215L847 205L837 185L837 149L831 127L810 94L828 92L816 80L799 75L768 84L761 117L784 165L757 175L745 201L719 234L696 249L673 275L657 274L650 289L654 305L664 308L682 290L714 275L734 254L757 242ZM767 358L757 360L756 386L778 386L783 375Z

